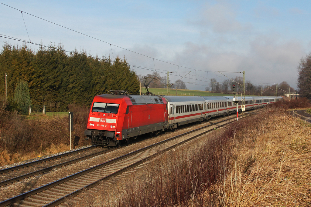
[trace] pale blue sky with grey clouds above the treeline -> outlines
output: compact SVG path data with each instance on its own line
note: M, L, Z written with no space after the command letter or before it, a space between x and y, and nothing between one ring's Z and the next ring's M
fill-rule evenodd
M299 60L311 51L311 1L0 2L174 65L110 48L24 13L31 42L61 42L66 50L84 49L99 56L125 55L129 64L156 68L162 76L174 71L172 81L191 71L182 79L189 82L188 89L204 90L209 79L226 79L214 71L243 70L254 84L287 81L296 88ZM20 11L0 4L0 34L29 40ZM22 44L0 38L1 45L4 41ZM152 73L152 69L132 68L137 74Z

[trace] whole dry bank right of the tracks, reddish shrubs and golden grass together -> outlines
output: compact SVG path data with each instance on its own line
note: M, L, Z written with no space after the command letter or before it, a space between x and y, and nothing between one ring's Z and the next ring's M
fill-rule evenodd
M119 206L311 206L311 127L286 110L310 106L302 102L270 105L149 164L120 190Z

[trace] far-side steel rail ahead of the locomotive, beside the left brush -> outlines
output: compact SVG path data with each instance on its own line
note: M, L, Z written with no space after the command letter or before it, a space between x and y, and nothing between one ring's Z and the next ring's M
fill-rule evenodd
M81 152L81 151L85 151L85 150L90 150L92 148L95 148L96 146L97 145L93 145L93 146L89 146L89 147L86 147L86 148L82 148L80 150L70 151L70 152L66 152L66 153L60 154L60 155L55 155L55 156L52 156L52 157L47 157L47 158L44 158L44 159L41 159L41 160L35 160L35 161L28 162L28 163L25 163L25 164L16 165L16 166L13 166L13 167L10 167L10 168L5 168L5 169L0 170L0 174L7 173L7 172L10 172L10 171L13 171L13 170L16 170L16 169L25 168L25 167L28 167L28 166L31 166L31 165L34 165L34 164L38 164L38 163L41 163L41 162L46 162L46 161L49 161L49 160L54 160L54 159L57 159L57 158L60 158L60 157L63 157L63 156L75 154L77 152Z

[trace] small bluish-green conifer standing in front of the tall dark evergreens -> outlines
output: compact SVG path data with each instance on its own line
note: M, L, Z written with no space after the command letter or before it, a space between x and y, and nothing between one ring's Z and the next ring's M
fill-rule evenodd
M17 83L14 91L14 101L17 102L20 112L27 114L28 106L31 105L28 83L21 80Z

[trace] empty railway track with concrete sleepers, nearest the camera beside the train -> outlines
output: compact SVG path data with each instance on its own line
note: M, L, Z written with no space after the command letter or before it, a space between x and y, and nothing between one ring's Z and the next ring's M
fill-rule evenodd
M229 124L234 121L233 119L235 118L225 119L213 124L209 124L207 126L194 129L187 133L171 137L164 141L119 156L102 164L95 165L91 168L82 170L81 172L74 173L47 185L4 200L0 202L0 207L57 206L61 204L66 198L76 196L83 189L90 189L95 185L98 185L101 181L108 180L111 177L114 177L127 171L128 169L142 164L147 159L150 159L156 154L168 151L196 137L200 137L203 134L208 133L216 128L220 128L226 124ZM221 124L223 122L226 123Z

